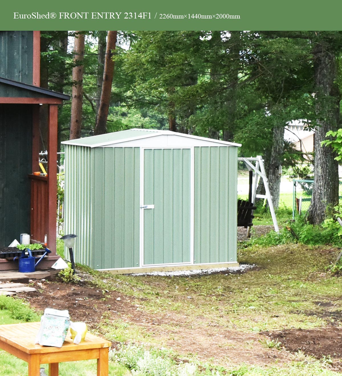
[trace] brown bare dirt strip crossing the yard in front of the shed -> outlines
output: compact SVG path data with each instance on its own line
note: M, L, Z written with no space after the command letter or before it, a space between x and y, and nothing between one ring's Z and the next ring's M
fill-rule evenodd
M255 226L254 236L266 233L272 228L273 226ZM239 240L244 237L246 229L239 229ZM68 309L72 321L84 321L90 331L100 334L101 322L110 325L119 319L128 325L134 324L149 335L145 344L149 344L149 338L156 339L162 346L174 349L181 358L192 354L201 361L210 360L213 364L232 366L244 362L268 367L289 364L304 353L317 359L331 358L333 369L342 370L342 328L335 324L340 322L342 317L331 323L327 320L327 326L320 329L253 333L226 330L215 321L174 312L166 307L163 307L160 313L153 313L144 309L139 298L125 296L119 291L102 290L89 282L66 284L58 280L43 280L32 284L37 291L22 293L21 296L36 309ZM158 287L158 282L154 280L153 285ZM229 320L229 317L219 314L217 320L222 322ZM278 341L282 350L265 346L267 341ZM117 343L113 342L113 347L116 345Z

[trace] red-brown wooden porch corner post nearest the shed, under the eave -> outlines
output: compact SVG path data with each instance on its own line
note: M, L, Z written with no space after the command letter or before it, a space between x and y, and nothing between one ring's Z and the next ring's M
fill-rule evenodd
M56 254L56 218L57 218L57 130L58 106L49 105L49 150L48 150L48 185L49 209L47 246Z

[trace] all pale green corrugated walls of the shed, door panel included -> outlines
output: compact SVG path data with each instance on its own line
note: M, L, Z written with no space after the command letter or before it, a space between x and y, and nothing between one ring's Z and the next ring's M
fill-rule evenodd
M178 209L182 212L176 227L169 231L164 231L164 224L169 227L168 221L152 218L153 226L145 216L145 229L150 226L152 235L145 239L144 263L189 262L189 237L185 236L190 233L189 195L171 189L171 180L178 188L189 186L190 150L157 149L145 153L144 179L149 174L152 178L145 185L144 204L156 205L159 195L164 205L160 215L176 215ZM140 148L66 145L65 170L66 233L78 235L76 261L96 269L138 267ZM164 179L165 173L171 180ZM157 213L149 210L145 209L148 215ZM236 215L237 147L195 147L195 264L237 261ZM162 233L162 251L156 247L156 242L162 241L153 232Z

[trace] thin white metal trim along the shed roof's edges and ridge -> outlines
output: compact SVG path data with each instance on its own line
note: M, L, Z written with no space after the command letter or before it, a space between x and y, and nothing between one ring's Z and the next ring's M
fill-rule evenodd
M140 128L132 128L131 130L141 130ZM193 136L193 135L186 135L185 133L177 133L177 132L172 132L171 130L159 130L159 129L144 129L145 132L151 132L150 135L144 135L144 136L135 136L135 137L129 137L129 138L122 138L119 140L112 140L112 141L106 141L98 144L93 144L93 145L88 145L88 144L79 144L79 143L74 143L73 140L69 141L63 141L62 144L66 145L76 145L76 146L86 146L86 147L100 147L100 146L106 146L106 145L114 145L114 144L119 144L119 143L124 143L128 141L134 141L137 139L143 139L143 138L149 138L149 137L154 137L154 136L159 136L159 135L173 135L173 136L179 136L179 137L185 137L185 138L190 138L190 139L198 139L202 141L211 141L215 142L217 144L222 144L222 145L227 145L227 146L241 146L241 144L237 143L231 143L228 141L221 141L221 140L216 140L212 138L206 138L206 137L201 137L201 136Z

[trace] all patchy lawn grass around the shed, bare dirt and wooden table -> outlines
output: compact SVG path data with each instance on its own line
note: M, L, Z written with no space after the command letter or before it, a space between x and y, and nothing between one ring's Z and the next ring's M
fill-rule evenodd
M328 273L326 268L338 253L339 250L331 246L286 244L260 247L241 243L239 262L257 265L242 274L113 276L86 267L83 269L92 274L99 287L129 296L130 305L136 306L145 314L144 317L170 317L170 320L158 324L158 330L177 342L185 327L197 331L211 327L212 333L218 334L234 330L247 337L261 331L322 328L334 323L333 314L329 315L329 309L324 305L318 306L318 302L334 302L333 311L342 311L342 280ZM20 299L1 298L2 322L37 320L37 316L22 303ZM21 306L24 306L23 311ZM128 376L132 374L130 369L135 370L133 374L137 376L340 374L329 368L328 359L315 359L303 353L298 353L286 364L273 363L267 367L244 363L227 365L223 359L221 364L217 359L203 362L195 352L179 354L165 348L161 335L154 335L129 316L121 314L116 317L114 320L109 314L103 315L96 333L122 344L122 356L112 355L110 358L110 375ZM182 317L183 326L177 323L177 317ZM138 347L131 347L131 344ZM228 353L232 350L231 346L222 342ZM256 343L249 341L244 346L250 349ZM266 343L265 346L273 344ZM279 353L283 351L280 349ZM186 362L179 363L177 359L185 359ZM26 375L27 364L1 352L0 374ZM60 375L95 376L96 361L62 363Z

